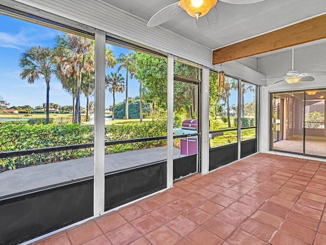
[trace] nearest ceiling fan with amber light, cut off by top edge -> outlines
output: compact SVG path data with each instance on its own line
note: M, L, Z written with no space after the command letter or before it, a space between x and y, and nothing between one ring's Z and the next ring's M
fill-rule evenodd
M253 4L264 0L219 0L228 4ZM195 18L195 27L212 33L218 26L219 13L215 8L218 0L180 0L154 14L147 23L147 27L156 27L172 19L182 10Z

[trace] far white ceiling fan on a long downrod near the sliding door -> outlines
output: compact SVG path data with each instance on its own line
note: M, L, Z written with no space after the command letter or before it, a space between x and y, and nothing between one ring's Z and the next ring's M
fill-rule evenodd
M286 76L267 78L266 80L280 79L280 80L274 82L273 84L282 82L284 80L289 84L295 84L300 81L312 82L315 80L314 77L312 77L312 76L322 76L322 75L326 75L326 71L311 71L311 72L300 73L298 70L294 70L294 48L292 48L292 69L290 71L286 72Z

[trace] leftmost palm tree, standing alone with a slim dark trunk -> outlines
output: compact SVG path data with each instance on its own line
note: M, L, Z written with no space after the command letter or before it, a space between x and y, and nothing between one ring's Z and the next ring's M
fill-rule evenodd
M50 123L49 118L49 91L50 79L53 73L53 50L49 47L34 46L28 48L19 57L19 67L22 68L20 78L27 78L32 84L35 80L44 77L46 83L46 124Z

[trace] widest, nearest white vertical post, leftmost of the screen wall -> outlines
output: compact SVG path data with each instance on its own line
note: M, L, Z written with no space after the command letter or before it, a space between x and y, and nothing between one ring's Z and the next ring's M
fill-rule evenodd
M94 216L104 212L105 32L95 30Z

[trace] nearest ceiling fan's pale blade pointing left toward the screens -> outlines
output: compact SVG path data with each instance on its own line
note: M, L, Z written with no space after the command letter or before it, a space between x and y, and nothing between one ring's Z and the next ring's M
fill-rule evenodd
M160 11L158 11L156 14L154 14L151 19L147 23L147 27L156 27L161 23L164 23L168 21L169 19L172 19L174 16L176 16L178 13L182 11L182 8L179 6L179 2L171 4Z

